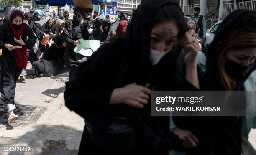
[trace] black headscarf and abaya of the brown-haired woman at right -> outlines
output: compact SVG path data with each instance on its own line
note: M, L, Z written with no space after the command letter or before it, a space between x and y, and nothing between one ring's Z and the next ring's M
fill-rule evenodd
M204 49L206 56L206 73L199 73L200 90L225 91L224 85L217 79L219 42L234 28L234 23L243 13L249 10L236 10L223 20L219 26L215 38ZM249 74L254 71L252 69ZM248 76L249 76L248 74ZM236 80L237 86L233 90L243 90L243 83L248 76ZM246 102L246 101L245 101ZM174 124L184 130L191 131L199 139L199 145L188 151L189 155L241 155L241 119L246 116L200 116L178 117L174 116Z

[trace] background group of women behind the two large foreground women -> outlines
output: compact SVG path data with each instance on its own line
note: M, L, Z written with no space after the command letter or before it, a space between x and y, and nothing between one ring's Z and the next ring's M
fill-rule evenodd
M23 76L26 76L27 60L33 66L32 71L36 76L55 76L67 67L71 80L81 60L87 60L87 57L74 52L79 39L100 40L103 45L110 28L109 16L105 20L100 16L93 20L78 18L75 23L70 19L48 20L43 25L39 23L37 12L28 12L24 15L23 12L16 10L12 11L10 17L1 18L3 24L0 25L0 104L6 104L8 107L9 124L15 123L18 119L13 113L15 86L19 77L21 82L26 82ZM124 36L120 26L118 32L120 36Z

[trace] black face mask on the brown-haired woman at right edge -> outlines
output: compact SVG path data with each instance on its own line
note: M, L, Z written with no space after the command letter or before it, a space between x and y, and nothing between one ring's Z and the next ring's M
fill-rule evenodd
M241 64L238 64L234 61L231 61L227 59L226 64L225 64L225 69L227 71L227 74L234 79L241 79L243 76L246 76L246 73L251 71L251 66L243 66Z

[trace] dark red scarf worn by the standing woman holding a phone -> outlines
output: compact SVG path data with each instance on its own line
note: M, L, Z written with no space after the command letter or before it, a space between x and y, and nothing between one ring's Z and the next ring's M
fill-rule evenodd
M21 13L22 15L22 25L19 29L15 29L13 28L13 13L15 12L19 12ZM10 20L9 20L9 23L10 23L10 27L11 29L13 30L13 34L15 36L16 39L20 39L20 36L22 35L23 31L24 31L24 28L26 26L25 23L23 23L23 20L24 20L24 14L23 12L21 12L20 10L15 10L13 11L11 14L10 14ZM14 38L13 38L14 39ZM18 43L14 43L14 46L20 46L20 44ZM26 46L22 46L21 49L15 49L15 61L16 61L16 65L17 66L20 66L20 67L23 67L24 69L26 69L26 66L27 66L27 48Z

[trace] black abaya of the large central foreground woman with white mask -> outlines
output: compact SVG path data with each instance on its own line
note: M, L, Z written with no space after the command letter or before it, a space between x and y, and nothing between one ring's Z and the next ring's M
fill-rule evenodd
M152 19L156 9L168 3L174 2L142 1L137 16L133 18L134 23L129 25L127 34L130 36L117 38L112 43L101 46L88 61L78 66L75 78L67 82L65 104L82 116L86 124L105 133L115 117L127 117L138 135L138 143L133 149L106 152L91 141L85 127L79 155L165 155L168 150L183 150L181 140L169 131L169 116L151 116L150 99L143 109L126 104L108 105L113 89L133 82L141 86L150 83L152 88L154 86L158 90L197 90L186 81L182 85L175 83L176 76L179 75L176 70L176 52L180 52L178 46L156 66L152 67L150 64L151 28L141 24L146 24L144 21ZM152 10L151 15L146 10ZM166 74L163 76L162 73Z

